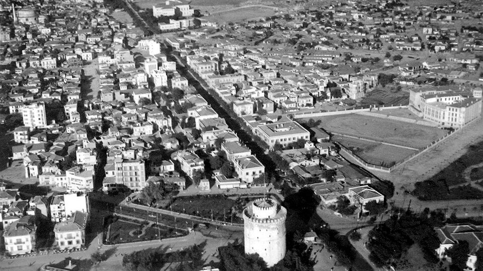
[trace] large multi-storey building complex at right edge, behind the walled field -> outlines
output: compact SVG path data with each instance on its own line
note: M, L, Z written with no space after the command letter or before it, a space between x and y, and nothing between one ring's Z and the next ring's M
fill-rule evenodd
M443 127L461 127L481 115L481 89L420 88L411 90L409 109Z

